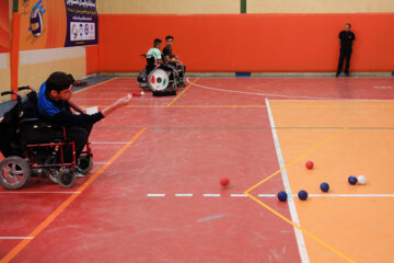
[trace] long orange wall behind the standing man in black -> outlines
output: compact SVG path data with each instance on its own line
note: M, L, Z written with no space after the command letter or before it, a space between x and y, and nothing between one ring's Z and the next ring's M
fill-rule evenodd
M99 71L139 71L139 55L167 34L189 71L334 71L347 22L351 70L393 71L394 13L100 14Z

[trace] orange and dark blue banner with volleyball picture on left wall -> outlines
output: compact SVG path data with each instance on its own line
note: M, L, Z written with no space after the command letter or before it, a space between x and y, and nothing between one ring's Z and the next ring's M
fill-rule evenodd
M19 8L21 50L97 44L95 0L20 0Z

